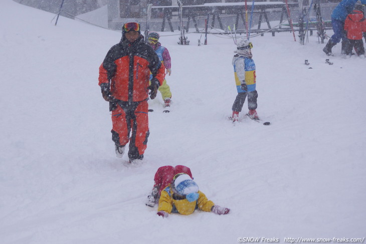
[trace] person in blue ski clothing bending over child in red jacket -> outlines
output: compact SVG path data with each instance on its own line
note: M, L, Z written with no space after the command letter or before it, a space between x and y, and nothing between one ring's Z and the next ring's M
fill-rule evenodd
M360 0L362 5L366 4L366 0ZM342 40L342 54L345 54L345 47L347 44L346 32L344 31L345 18L352 13L354 5L357 0L342 0L332 12L331 21L333 27L333 36L323 48L323 52L327 56L333 56L332 47Z

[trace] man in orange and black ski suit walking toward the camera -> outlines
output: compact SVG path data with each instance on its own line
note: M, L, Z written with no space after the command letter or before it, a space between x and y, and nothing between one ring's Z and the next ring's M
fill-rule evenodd
M149 136L148 94L154 99L165 78L164 65L144 43L140 28L136 21L125 23L121 41L110 48L99 67L99 86L112 112L111 132L116 156L123 156L129 142L130 163L143 159Z

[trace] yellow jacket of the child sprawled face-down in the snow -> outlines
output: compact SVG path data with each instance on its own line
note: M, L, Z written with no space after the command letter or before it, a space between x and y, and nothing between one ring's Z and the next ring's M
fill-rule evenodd
M189 202L187 199L174 200L171 197L173 192L171 191L170 187L167 186L164 190L161 191L157 211L165 211L167 213L171 213L175 206L175 209L178 213L183 215L189 215L196 210L197 204L199 209L206 212L211 212L211 208L215 205L215 203L211 200L208 200L206 195L202 191L198 191L198 193L199 197L197 201Z

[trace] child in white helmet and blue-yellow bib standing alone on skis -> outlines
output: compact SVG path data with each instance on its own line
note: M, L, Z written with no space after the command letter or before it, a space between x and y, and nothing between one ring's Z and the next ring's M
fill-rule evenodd
M252 119L259 119L257 114L257 97L256 90L256 72L255 64L252 59L253 45L249 40L242 39L237 43L237 50L233 57L232 64L234 66L235 83L238 90L238 95L234 101L232 110L233 122L238 121L239 112L242 111L245 98L248 96L249 117Z

